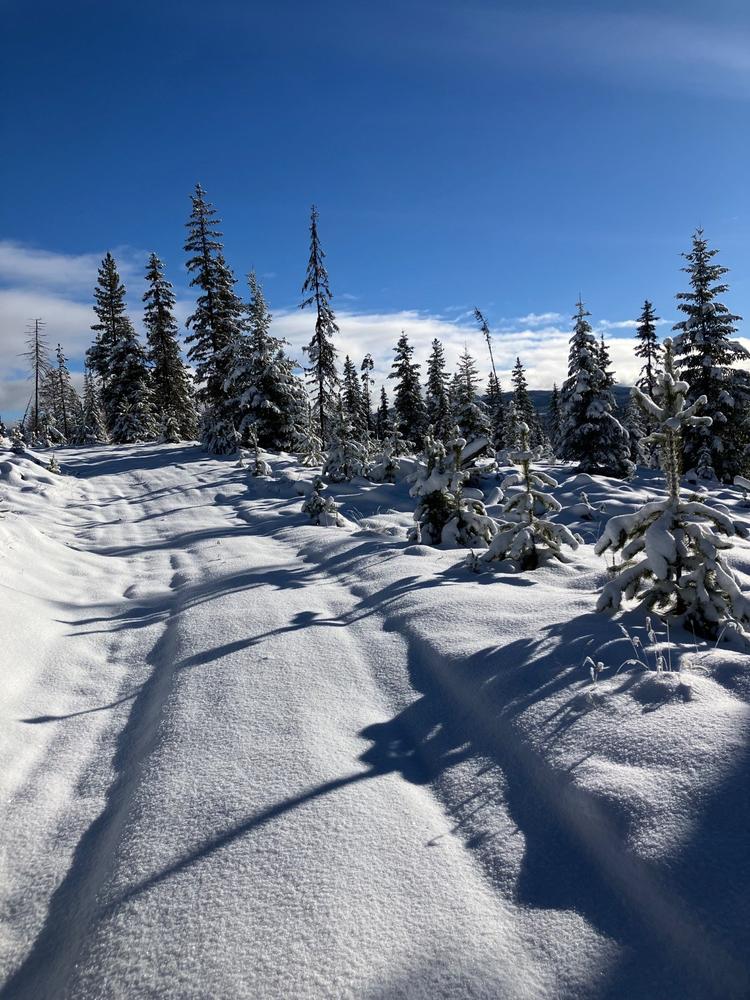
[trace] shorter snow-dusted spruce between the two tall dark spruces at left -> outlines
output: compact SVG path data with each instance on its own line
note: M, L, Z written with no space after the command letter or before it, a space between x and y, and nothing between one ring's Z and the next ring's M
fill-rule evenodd
M144 351L130 320L126 319L112 347L110 407L111 436L115 444L152 441L158 426L154 412L151 375Z

